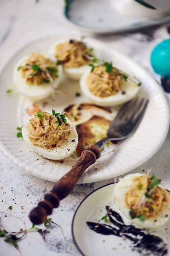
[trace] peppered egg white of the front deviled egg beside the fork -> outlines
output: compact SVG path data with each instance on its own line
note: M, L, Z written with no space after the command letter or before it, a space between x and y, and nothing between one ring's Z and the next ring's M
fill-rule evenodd
M71 124L68 118L67 118L67 122ZM50 148L50 149L45 149L40 146L32 145L31 140L28 137L28 130L26 126L23 126L22 134L23 134L23 139L26 141L26 143L28 143L31 146L34 152L36 152L42 157L45 157L51 160L61 160L71 156L71 154L73 154L73 152L77 148L77 144L78 144L78 134L75 127L70 131L70 134L67 137L67 140L65 140L65 142L63 142L59 147Z

